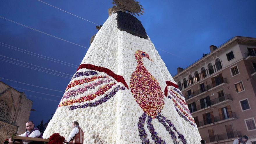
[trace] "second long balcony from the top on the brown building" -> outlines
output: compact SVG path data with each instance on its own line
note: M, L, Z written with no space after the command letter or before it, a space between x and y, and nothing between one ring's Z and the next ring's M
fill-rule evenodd
M221 97L217 97L215 99L212 99L210 101L210 105L207 106L207 107L204 107L202 108L201 105L197 106L196 107L196 111L193 111L191 114L195 114L195 113L200 113L200 112L203 112L204 110L208 110L208 109L214 109L222 104L226 104L226 103L229 103L229 102L232 102L233 99L231 97L230 94L225 94Z

